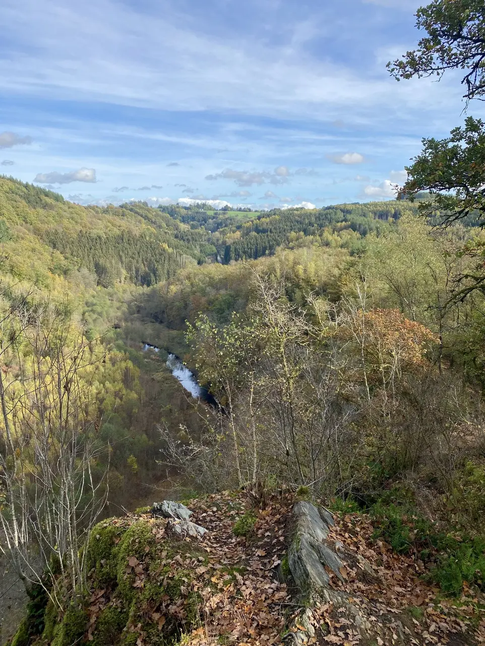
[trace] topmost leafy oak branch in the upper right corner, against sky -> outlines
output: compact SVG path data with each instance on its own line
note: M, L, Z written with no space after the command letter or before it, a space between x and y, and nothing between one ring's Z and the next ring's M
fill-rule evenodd
M416 50L387 68L398 81L413 76L441 77L445 70L467 70L464 98L485 95L485 5L482 0L435 0L416 12L416 26L427 36ZM481 99L483 100L483 99Z

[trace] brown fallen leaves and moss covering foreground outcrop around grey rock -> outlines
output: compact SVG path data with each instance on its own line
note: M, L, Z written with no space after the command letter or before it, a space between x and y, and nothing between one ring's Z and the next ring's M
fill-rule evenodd
M120 532L141 523L148 533L140 534L131 552L118 550L123 563L118 562L116 581L100 586L99 567L92 571L87 640L103 643L107 610L123 618L111 642L123 646L263 646L290 640L288 631L299 630L304 600L290 579L288 585L278 581L277 571L281 578L287 568L292 502L273 499L263 510L253 510L244 494L191 501L191 520L209 530L201 541L173 539L167 521L150 514L109 521ZM238 521L245 536L235 536ZM329 572L331 585L346 592L375 625L375 638L360 641L345 609L321 604L308 614L315 630L308 643L485 643L482 599L473 590L466 589L460 599L444 598L424 581L426 571L417 557L394 554L372 539L369 517L349 514L336 521L329 547L337 545L345 562L344 583ZM122 545L124 538L114 536L114 543Z

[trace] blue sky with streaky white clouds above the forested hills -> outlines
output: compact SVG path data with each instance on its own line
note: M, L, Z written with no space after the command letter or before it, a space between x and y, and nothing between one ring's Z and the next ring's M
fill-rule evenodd
M418 5L3 0L0 172L80 203L389 199L463 120L455 74L385 69Z

